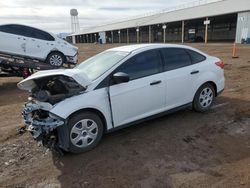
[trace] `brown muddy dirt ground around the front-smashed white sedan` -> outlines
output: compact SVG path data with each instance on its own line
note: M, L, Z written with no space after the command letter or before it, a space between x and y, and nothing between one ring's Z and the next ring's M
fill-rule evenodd
M79 45L80 60L114 45ZM189 109L105 135L94 150L52 154L17 134L27 93L0 78L0 187L250 187L250 46L192 44L221 58L226 89L205 114Z

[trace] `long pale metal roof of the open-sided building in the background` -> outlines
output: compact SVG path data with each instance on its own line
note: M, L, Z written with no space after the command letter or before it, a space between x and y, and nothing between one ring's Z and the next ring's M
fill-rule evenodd
M201 4L199 6L187 7L182 9L174 9L169 11L161 11L157 14L134 18L120 22L114 22L106 25L95 26L83 29L79 34L90 34L102 31L112 31L126 28L136 28L147 25L170 23L182 20L191 20L197 18L219 16L230 13L238 13L250 10L250 0L219 0L210 3Z

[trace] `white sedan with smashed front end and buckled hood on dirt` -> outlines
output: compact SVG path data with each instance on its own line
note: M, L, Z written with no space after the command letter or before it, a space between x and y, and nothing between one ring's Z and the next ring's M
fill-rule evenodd
M74 69L40 71L18 83L31 91L23 118L45 146L88 151L104 133L156 115L209 110L224 89L223 67L182 45L109 49Z

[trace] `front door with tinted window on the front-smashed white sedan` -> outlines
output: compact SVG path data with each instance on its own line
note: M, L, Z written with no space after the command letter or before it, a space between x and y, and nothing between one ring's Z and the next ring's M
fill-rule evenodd
M115 72L130 76L128 83L110 86L110 98L115 126L127 124L165 108L165 85L162 61L158 50L135 55Z

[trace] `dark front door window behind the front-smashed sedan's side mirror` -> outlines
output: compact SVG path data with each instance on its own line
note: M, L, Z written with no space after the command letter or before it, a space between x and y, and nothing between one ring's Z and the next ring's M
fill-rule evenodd
M122 64L116 72L127 73L130 80L157 74L161 71L161 58L157 50L149 50L135 55Z

